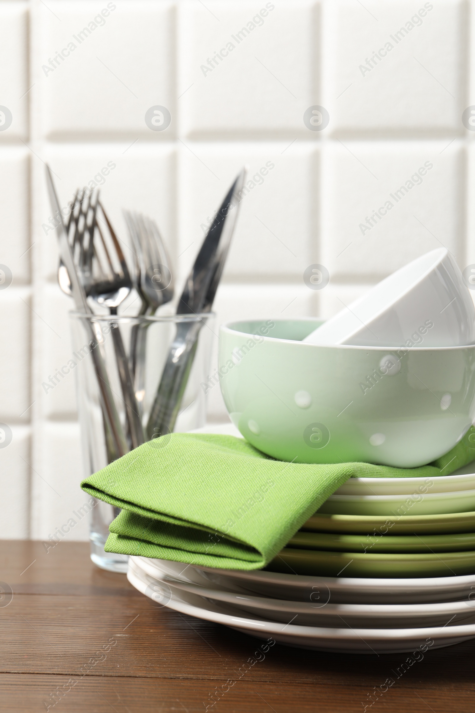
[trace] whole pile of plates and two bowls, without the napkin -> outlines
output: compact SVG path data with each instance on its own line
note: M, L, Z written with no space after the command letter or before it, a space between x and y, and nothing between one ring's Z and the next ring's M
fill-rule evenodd
M221 326L220 364L262 324ZM241 434L268 456L415 468L472 422L475 310L447 250L417 258L324 324L265 324L275 331L260 331L261 347L220 384ZM382 385L367 376L358 386L365 373ZM289 425L294 404L301 411ZM266 571L132 557L127 576L161 605L288 645L371 653L454 644L475 637L473 468L350 478Z

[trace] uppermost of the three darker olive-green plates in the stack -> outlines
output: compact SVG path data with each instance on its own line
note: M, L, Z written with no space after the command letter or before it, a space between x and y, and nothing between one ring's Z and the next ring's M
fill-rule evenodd
M475 512L444 515L323 515L315 513L302 530L320 533L440 535L475 532Z

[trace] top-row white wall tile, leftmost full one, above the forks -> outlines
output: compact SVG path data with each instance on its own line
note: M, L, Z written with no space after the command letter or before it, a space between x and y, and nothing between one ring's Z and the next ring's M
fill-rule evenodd
M174 5L115 0L48 2L38 8L34 67L46 138L167 139L145 113L174 118ZM59 53L59 54L58 54Z

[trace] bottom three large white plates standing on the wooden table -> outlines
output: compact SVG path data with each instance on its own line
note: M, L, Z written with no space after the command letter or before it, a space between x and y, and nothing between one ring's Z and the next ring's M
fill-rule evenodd
M127 578L159 605L302 648L380 654L475 637L475 575L325 578L131 557Z

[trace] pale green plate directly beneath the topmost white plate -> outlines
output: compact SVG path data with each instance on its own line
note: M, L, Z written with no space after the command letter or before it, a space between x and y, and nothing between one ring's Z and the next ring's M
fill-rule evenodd
M440 515L475 510L475 490L412 491L400 495L331 495L319 513L330 515Z

